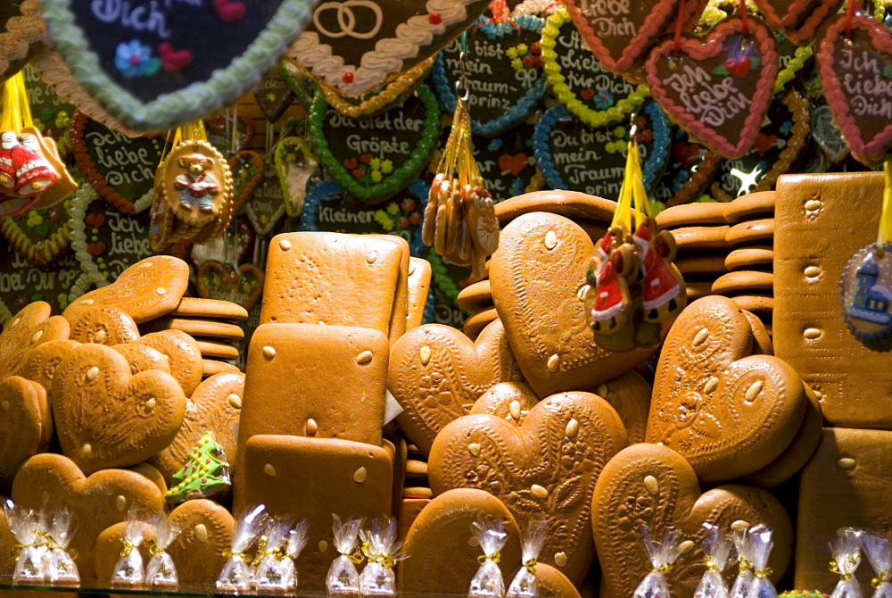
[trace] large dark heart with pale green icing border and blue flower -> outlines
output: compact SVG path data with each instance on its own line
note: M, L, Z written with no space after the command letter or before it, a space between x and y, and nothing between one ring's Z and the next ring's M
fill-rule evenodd
M41 6L77 82L114 117L150 131L235 104L276 64L309 16L303 0L213 4L215 10L165 4L125 11L54 0Z

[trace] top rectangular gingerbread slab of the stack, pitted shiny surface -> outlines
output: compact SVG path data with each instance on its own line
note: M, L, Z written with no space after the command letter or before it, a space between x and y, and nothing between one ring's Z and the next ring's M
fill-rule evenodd
M359 326L389 335L403 262L401 245L376 235L277 235L269 244L260 323Z

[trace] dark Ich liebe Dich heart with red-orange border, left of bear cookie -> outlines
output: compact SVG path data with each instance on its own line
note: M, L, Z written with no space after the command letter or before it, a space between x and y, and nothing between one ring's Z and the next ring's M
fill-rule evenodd
M134 202L152 190L164 140L126 137L79 111L71 117L70 136L90 184L121 212L135 213Z

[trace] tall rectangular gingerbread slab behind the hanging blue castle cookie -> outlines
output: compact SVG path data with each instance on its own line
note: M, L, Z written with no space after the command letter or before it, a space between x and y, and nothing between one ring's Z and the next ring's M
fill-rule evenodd
M892 429L888 353L848 331L839 278L877 238L883 175L780 177L774 233L774 354L819 392L824 418L843 428Z

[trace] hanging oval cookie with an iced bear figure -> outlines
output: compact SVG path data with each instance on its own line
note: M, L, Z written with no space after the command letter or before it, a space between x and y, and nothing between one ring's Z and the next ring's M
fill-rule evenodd
M173 149L155 173L149 240L154 251L187 241L207 243L232 220L233 180L229 164L208 143L204 123L177 129Z

